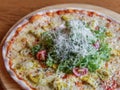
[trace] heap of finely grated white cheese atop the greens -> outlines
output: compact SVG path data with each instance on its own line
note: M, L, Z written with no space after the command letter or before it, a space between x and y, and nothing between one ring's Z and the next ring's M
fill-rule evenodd
M77 56L82 57L95 53L96 50L91 45L91 41L95 41L96 37L90 29L86 28L85 24L80 20L71 20L67 24L70 31L54 31L57 56L65 60L68 58L69 53L75 53Z

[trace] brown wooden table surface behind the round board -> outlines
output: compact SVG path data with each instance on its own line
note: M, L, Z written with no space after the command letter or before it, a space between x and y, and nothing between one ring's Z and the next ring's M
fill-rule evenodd
M0 42L10 27L26 14L45 6L63 3L92 4L120 13L120 0L0 0ZM1 85L0 90L3 90Z

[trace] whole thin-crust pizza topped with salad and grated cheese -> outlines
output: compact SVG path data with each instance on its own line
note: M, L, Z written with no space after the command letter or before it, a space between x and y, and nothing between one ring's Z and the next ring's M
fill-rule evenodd
M8 35L3 56L27 90L119 90L120 23L79 8L38 12Z

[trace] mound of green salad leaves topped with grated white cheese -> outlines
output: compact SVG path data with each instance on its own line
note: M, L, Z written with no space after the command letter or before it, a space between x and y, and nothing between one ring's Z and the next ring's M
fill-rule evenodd
M32 48L37 59L45 60L49 67L57 65L57 70L70 73L74 67L95 71L110 56L110 48L104 42L105 28L92 31L80 20L66 21L66 26L43 32L40 44ZM99 40L99 41L98 41ZM47 50L45 52L39 50Z

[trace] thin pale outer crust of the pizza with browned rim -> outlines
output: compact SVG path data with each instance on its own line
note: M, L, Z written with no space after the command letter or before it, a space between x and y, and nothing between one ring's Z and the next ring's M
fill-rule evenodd
M82 13L82 14L84 14L84 13L83 13L83 12L84 12L83 9L82 9L82 10L80 9L80 12L79 12L79 9L76 9L76 8L75 8L75 10L74 10L74 8L73 8L73 9L65 10L65 12L64 12L63 10L64 10L64 9L56 9L56 10L46 11L47 13L46 13L46 12L44 12L44 13L46 13L46 14L49 15L49 16L54 16L55 13L53 13L53 12L55 12L55 11L58 11L58 12L57 12L58 15L64 14L65 12L67 12L67 13L77 12L77 13ZM41 12L42 12L42 11L37 12L37 13L41 13ZM90 17L92 17L93 15L96 15L96 16L98 15L98 16L100 16L100 17L106 18L106 17L104 17L104 15L102 15L102 14L97 14L97 13L95 13L94 11L88 11L88 12L89 12L88 15L89 15ZM14 42L14 38L16 38L17 35L19 35L19 33L21 32L21 30L23 30L23 28L24 28L25 26L27 26L29 23L34 23L35 21L37 21L38 19L40 19L40 18L44 15L44 14L39 15L39 14L37 14L37 13L36 13L36 15L31 16L30 19L26 19L27 22L18 25L18 26L10 33L10 35L8 36L8 38L7 38L6 42L5 42L5 45L3 46L3 57L4 57L5 66L6 66L7 70L8 70L8 72L10 72L11 77L12 77L17 83L19 83L23 88L25 88L26 90L34 90L35 88L32 88L32 87L30 86L30 84L28 84L25 80L21 79L18 75L16 75L15 71L11 68L11 66L12 66L11 60L10 60L9 58L7 58L6 55L7 55L8 51L10 50L12 43ZM108 18L107 18L107 19L108 19ZM111 22L111 21L114 22L112 19L108 19L108 21L109 21L109 22Z

